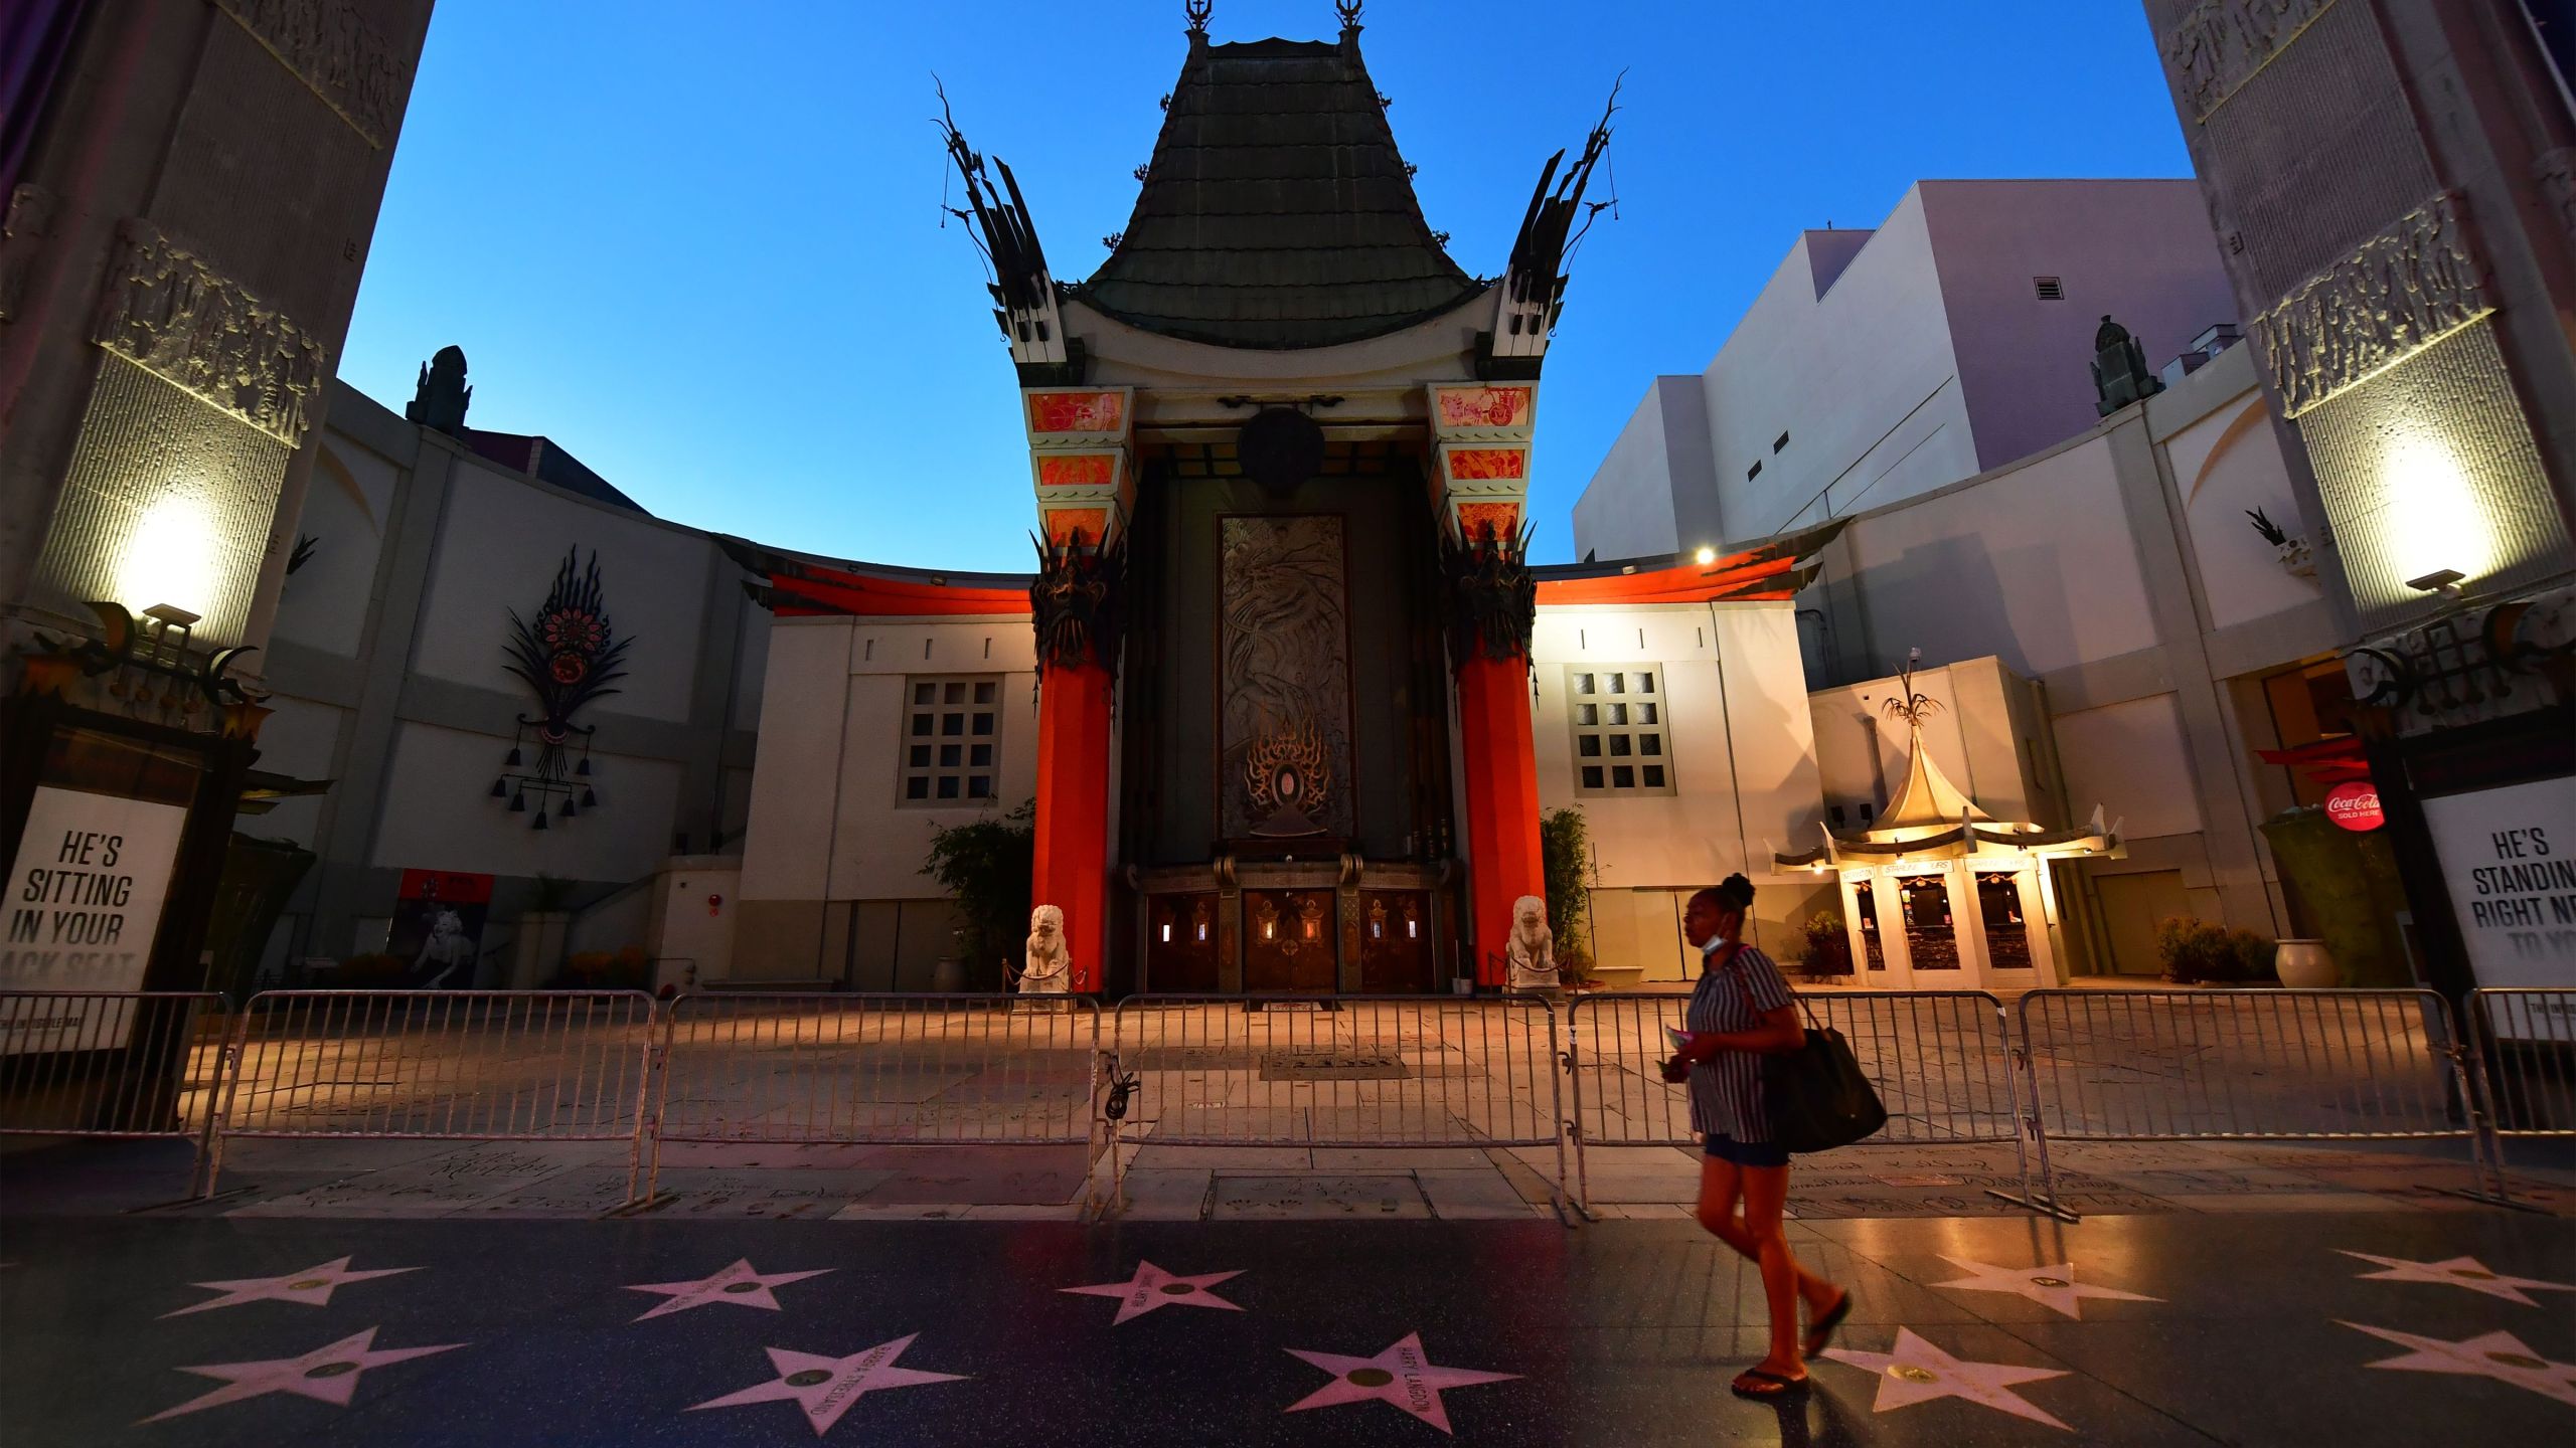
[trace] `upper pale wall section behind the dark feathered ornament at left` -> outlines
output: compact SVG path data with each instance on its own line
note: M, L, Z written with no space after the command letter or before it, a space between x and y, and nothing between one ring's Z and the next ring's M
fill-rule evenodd
M456 461L448 484L415 670L523 691L502 667L510 636L505 608L533 618L567 549L580 549L577 569L598 551L608 616L618 636L634 639L626 678L616 685L621 693L605 698L605 709L688 721L706 569L716 557L706 533L569 497L471 459Z

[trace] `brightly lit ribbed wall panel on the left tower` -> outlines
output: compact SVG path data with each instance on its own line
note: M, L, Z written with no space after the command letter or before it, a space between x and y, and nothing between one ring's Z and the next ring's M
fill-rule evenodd
M100 598L204 616L193 642L242 639L289 446L188 392L100 356L72 472L36 564L36 600L88 618Z

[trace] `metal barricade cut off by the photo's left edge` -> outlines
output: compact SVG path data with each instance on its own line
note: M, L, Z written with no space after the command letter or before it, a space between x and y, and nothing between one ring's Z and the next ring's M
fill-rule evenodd
M0 992L0 1136L188 1141L191 1185L224 1080L216 992Z

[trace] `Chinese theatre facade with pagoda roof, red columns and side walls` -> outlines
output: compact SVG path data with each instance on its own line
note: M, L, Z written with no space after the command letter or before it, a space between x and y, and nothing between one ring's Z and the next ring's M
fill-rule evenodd
M866 989L842 958L943 951L938 912L881 894L930 894L930 827L1023 799L1033 902L1064 912L1074 989L1113 992L1494 987L1512 904L1543 894L1543 804L1584 804L1674 876L1654 886L1765 876L1770 843L1814 835L1788 598L1829 533L1643 572L1522 557L1607 116L1497 198L1520 232L1497 281L1468 276L1414 201L1355 10L1337 41L1195 23L1133 216L1082 283L951 131L1043 567L737 546L775 613L737 974L817 958Z

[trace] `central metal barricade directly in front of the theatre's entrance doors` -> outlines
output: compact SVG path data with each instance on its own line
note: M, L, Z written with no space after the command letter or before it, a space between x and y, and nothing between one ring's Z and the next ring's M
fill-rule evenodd
M1110 1144L1149 1123L1162 1147L1553 1147L1564 1190L1556 1049L1538 997L1133 995L1110 1028L1108 1067L1133 1077Z

